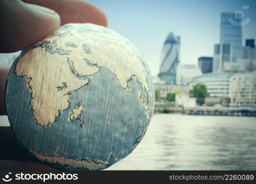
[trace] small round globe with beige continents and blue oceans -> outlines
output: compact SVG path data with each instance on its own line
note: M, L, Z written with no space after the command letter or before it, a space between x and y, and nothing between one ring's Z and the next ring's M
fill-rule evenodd
M72 23L21 52L8 75L6 109L20 144L40 161L99 170L139 144L154 95L149 68L127 39Z

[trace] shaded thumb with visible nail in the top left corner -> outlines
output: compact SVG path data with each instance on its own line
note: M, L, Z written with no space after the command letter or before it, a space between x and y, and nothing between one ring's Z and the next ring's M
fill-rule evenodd
M1 0L0 25L0 52L16 52L58 29L60 16L46 7Z

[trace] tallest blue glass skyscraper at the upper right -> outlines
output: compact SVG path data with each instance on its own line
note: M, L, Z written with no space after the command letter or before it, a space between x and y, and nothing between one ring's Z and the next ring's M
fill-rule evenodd
M242 58L242 18L239 12L222 12L220 20L220 44L230 44L232 58Z

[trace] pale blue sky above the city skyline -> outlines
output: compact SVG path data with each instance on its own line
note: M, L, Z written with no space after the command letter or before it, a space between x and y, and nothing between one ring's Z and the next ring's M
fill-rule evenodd
M220 13L244 13L245 39L256 39L255 0L94 0L107 15L109 28L138 48L153 75L160 67L161 49L169 32L180 36L180 63L198 64L200 56L212 56L220 41ZM249 9L242 9L249 6Z

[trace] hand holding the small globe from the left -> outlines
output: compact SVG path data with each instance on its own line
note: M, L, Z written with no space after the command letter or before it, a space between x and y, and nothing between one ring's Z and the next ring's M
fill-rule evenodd
M1 0L0 52L23 50L66 23L107 26L107 18L101 9L80 0ZM0 66L0 115L6 115L4 91L9 69ZM0 145L0 169L54 169L22 148L10 127L0 126Z

